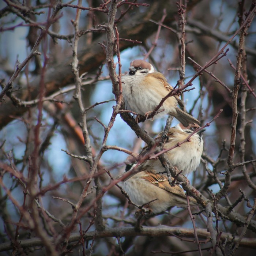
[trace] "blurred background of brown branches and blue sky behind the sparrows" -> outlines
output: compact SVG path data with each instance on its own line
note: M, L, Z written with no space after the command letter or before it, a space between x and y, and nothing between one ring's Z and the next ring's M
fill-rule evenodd
M102 8L102 5L110 6L110 1L87 0L82 1L83 7ZM155 69L162 72L168 82L175 86L179 79L180 69L180 26L175 1L119 1L119 8L116 14L116 26L120 33L120 59L121 72L128 71L129 63L134 59L143 59L148 50L155 44L147 61ZM209 61L231 38L240 27L239 15L245 19L245 13L249 11L252 1L185 1L186 12L185 26L186 38L186 70L185 83L196 73L197 66L188 59L190 57L196 63L203 66ZM135 3L139 5L135 5ZM19 1L5 0L0 3L0 82L2 88L14 74L16 66L22 63L29 56L42 28L49 22L57 1ZM0 219L0 239L1 242L15 239L17 223L19 227L19 239L28 239L36 236L34 230L27 228L26 220L20 221L20 207L29 211L29 199L25 197L27 190L27 177L31 166L31 157L34 157L35 134L38 124L38 117L42 111L42 120L39 127L39 146L37 151L37 189L43 191L49 188L46 193L40 195L38 199L41 205L40 219L42 227L52 235L52 230L47 231L47 226L51 225L56 232L63 231L63 226L59 222L47 219L44 210L64 225L68 225L73 209L70 204L53 197L67 199L76 204L85 184L85 177L90 172L89 165L78 158L71 157L66 152L73 155L83 156L84 140L82 130L79 127L81 113L77 102L73 98L74 80L71 71L72 50L74 40L74 26L71 20L76 17L76 8L68 4L78 4L77 1L62 1L63 8L55 16L54 22L49 27L46 35L38 46L41 55L32 57L13 82L13 88L4 95L0 103L0 162L1 162L1 219ZM66 5L65 5L66 4ZM141 4L141 5L140 5ZM145 6L147 4L148 6ZM242 6L242 7L241 7ZM241 11L242 9L242 11ZM108 9L104 9L108 10ZM161 28L159 37L156 37L158 25L164 11L166 18ZM127 11L127 12L126 12ZM105 102L90 108L86 113L87 128L90 136L90 146L95 157L99 153L104 136L102 124L108 125L112 116L113 106L116 104L112 93L112 82L109 79L109 71L106 65L106 55L103 45L106 45L106 31L104 26L108 22L108 12L97 11L96 9L82 10L79 20L79 30L81 37L78 45L78 60L80 75L85 73L82 87L84 108L89 108L96 102ZM169 29L168 29L169 28ZM250 88L255 89L256 75L256 21L252 20L251 26L245 38L246 56L243 60L243 76L248 81ZM123 40L123 39L128 39ZM137 40L133 42L131 40ZM230 67L230 63L236 67L239 34L227 46L229 51L226 56L217 61L216 64L207 70L212 72L230 90L234 87L235 71ZM227 49L226 48L226 49ZM225 49L225 50L226 50ZM230 63L229 63L229 61ZM117 63L117 57L114 56ZM116 69L118 73L118 65ZM90 82L93 81L93 82ZM43 90L41 84L44 84ZM256 122L255 122L255 102L252 93L241 79L241 88L238 94L238 124L237 139L234 154L234 163L243 162L241 160L241 147L244 146L244 161L255 159L256 150ZM227 155L230 147L232 112L232 95L209 74L203 73L197 77L191 87L193 90L182 94L185 109L192 114L202 125L211 121L212 118L223 109L221 115L207 127L204 135L203 162L195 173L188 178L207 198L210 191L217 193L223 185L225 172L227 170ZM65 90L65 91L62 91ZM246 104L245 127L241 131L241 94L244 92L245 98L242 101ZM58 95L54 95L54 94ZM49 97L38 105L34 99ZM12 97L14 96L14 97ZM15 102L15 97L20 102ZM94 117L97 118L97 121ZM163 131L167 116L163 119L155 118L154 121L140 123L142 129L146 130L153 138ZM173 120L171 126L177 124ZM245 133L245 140L241 139L241 132ZM110 129L107 145L113 145L128 149L134 153L139 153L145 143L137 138L135 132L117 115L113 127ZM110 177L105 173L109 171L112 177L124 172L125 160L128 154L118 150L105 151L99 161L97 172L101 187L110 184ZM18 174L8 172L6 165L10 166ZM252 184L255 184L255 163L251 162L244 167L239 166L232 172L233 180L228 190L228 194L220 200L220 204L228 206L236 202L241 192L245 197L240 200L235 211L247 216L251 208L247 202L253 205L256 197L255 189L245 180L246 172ZM65 178L69 181L65 181ZM78 179L74 180L74 178ZM79 180L79 177L82 177ZM70 180L73 179L73 180ZM57 185L54 187L54 185ZM95 198L95 184L91 183L89 189L92 193L86 197L82 207L90 205ZM24 203L24 198L26 199ZM244 199L248 199L247 202ZM16 203L14 203L16 202ZM135 207L128 205L127 200L117 187L112 187L102 197L102 217L106 227L130 227L136 223ZM95 230L95 225L90 226L90 221L94 218L94 207L87 211L80 219L82 229ZM196 215L196 226L206 229L205 218ZM47 221L46 221L47 219ZM46 223L45 223L46 222ZM50 224L49 224L50 223ZM187 210L172 208L164 215L145 219L143 225L157 226L161 223L167 226L177 226L192 228L191 219ZM240 235L241 228L224 218L219 218L215 223L217 228L231 235ZM79 231L79 225L73 231ZM246 231L246 237L255 238L251 230ZM191 238L190 238L191 239ZM122 246L120 246L120 244ZM233 244L222 244L223 251L228 254ZM221 246L221 245L220 245ZM225 247L226 246L226 247ZM89 241L86 255L163 255L167 252L188 251L182 255L198 255L193 250L197 249L196 244L190 241L182 241L178 237L121 237L120 243L115 237L102 238ZM203 255L209 255L207 248L211 248L210 241L202 244ZM91 249L90 249L91 248ZM120 249L122 248L122 250ZM226 248L226 249L225 249ZM77 250L77 251L76 251ZM73 253L78 253L80 246L73 249ZM241 250L241 251L239 251ZM252 248L239 248L239 252L253 253ZM19 251L19 250L18 250ZM161 252L163 251L163 252ZM255 251L254 251L255 252ZM11 251L4 252L3 255L11 255ZM16 252L18 254L18 252ZM19 251L20 253L20 251ZM43 255L44 249L37 247L24 249L22 253L28 255ZM71 253L71 252L70 252ZM72 254L72 253L71 253ZM223 254L224 255L224 254ZM252 255L252 254L251 254Z

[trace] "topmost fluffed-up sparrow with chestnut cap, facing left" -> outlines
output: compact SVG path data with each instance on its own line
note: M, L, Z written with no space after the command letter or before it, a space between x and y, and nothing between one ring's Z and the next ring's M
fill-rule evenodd
M166 78L144 60L133 60L129 67L129 74L122 77L124 103L127 109L146 116L154 110L173 87ZM185 127L200 122L177 107L183 107L181 99L174 95L166 99L157 116L170 114L176 117Z

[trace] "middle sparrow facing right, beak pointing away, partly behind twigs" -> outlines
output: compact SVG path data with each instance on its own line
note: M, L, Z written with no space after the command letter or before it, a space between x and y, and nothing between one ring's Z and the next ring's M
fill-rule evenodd
M167 142L164 144L163 150L167 150L168 148L181 143L198 128L200 128L198 124L184 127L184 125L181 123L170 128L167 133ZM167 157L167 159L174 167L180 171L182 170L182 174L184 176L188 176L190 173L195 171L200 164L204 145L202 132L205 130L206 129L201 129L197 131L189 138L189 141L186 141L185 143L182 143L179 146L165 152L165 157ZM158 145L162 141L162 133L159 133L154 140L156 145ZM154 153L153 150L146 146L140 152L138 159L152 153ZM128 165L126 170L128 170L131 165L133 165L133 163ZM148 159L140 163L137 168L144 169L148 167L153 168L158 172L165 172L165 168L162 166L162 163L159 161L159 159Z

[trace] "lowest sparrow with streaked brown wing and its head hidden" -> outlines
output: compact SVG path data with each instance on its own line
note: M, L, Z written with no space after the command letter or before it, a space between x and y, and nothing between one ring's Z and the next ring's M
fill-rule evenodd
M184 190L175 185L171 187L163 174L157 174L154 169L148 169L131 175L121 185L129 195L129 199L137 206L148 204L153 214L168 210L173 206L186 207L187 197ZM189 197L189 204L195 205L196 200Z

